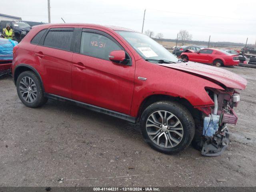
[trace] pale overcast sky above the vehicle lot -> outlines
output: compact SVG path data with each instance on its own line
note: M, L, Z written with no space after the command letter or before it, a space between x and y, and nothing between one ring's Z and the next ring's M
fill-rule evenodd
M51 0L51 22L95 23L161 32L176 38L180 29L193 40L230 41L255 44L255 0ZM22 20L48 22L47 0L1 1L1 14Z

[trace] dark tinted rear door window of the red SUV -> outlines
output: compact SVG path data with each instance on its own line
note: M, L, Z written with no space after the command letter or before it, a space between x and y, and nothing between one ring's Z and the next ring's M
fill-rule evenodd
M44 39L44 46L69 51L73 31L74 28L51 29Z

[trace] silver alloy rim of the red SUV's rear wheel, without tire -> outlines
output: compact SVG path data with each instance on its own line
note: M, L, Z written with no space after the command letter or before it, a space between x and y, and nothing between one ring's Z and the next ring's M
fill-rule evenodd
M20 95L28 103L36 100L37 89L32 78L26 76L20 80Z

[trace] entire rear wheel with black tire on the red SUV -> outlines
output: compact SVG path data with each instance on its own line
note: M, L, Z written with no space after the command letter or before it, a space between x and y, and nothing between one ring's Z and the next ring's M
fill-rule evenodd
M47 102L40 78L31 71L22 72L17 79L16 89L22 103L36 108Z

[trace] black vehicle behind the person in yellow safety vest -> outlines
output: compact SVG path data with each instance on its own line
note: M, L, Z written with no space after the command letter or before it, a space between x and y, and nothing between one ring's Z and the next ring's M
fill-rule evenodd
M10 25L14 32L14 40L20 42L26 34L30 31L31 27L23 21L8 21L8 20L1 20L0 21L0 32L3 32L3 29L6 26Z

